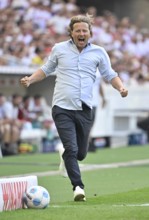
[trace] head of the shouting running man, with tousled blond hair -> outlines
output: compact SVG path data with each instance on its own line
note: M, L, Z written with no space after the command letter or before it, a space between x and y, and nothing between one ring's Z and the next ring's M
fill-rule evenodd
M81 51L92 37L93 19L90 15L77 15L71 18L69 24L69 35L77 48Z

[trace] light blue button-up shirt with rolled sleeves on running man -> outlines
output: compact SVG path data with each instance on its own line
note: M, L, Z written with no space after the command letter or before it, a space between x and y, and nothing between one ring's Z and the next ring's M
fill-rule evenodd
M79 52L72 40L55 44L47 62L41 67L46 76L53 72L56 74L52 106L82 110L84 102L92 108L97 68L107 81L117 76L104 48L88 43Z

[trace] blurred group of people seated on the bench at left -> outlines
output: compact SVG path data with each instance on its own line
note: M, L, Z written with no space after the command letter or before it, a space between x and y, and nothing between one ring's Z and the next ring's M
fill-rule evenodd
M0 147L3 155L17 154L22 129L32 132L34 128L45 129L49 140L53 138L52 132L56 132L51 108L44 97L13 94L7 98L0 93Z

